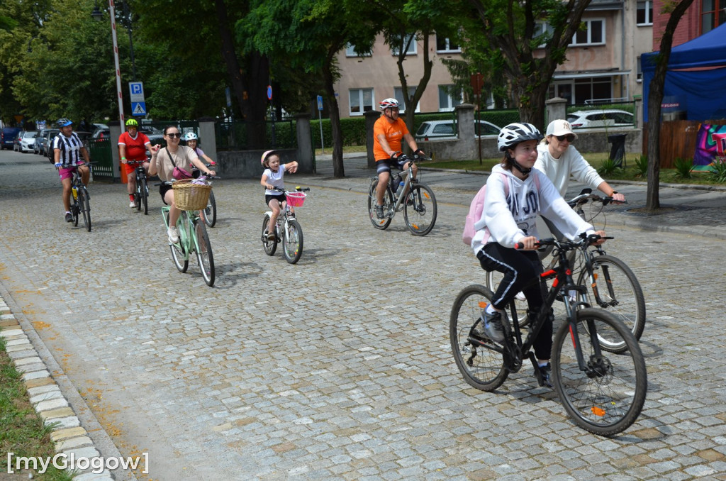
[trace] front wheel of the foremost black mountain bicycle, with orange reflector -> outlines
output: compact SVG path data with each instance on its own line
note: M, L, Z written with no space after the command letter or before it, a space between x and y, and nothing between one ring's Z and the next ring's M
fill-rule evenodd
M611 436L635 422L643 409L648 377L645 360L632 332L610 312L586 308L576 312L571 330L563 323L552 344L552 381L560 402L582 429ZM577 361L574 336L584 371ZM627 352L599 349L599 337L621 339Z

